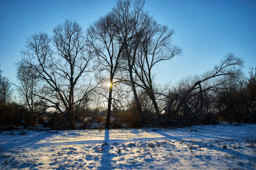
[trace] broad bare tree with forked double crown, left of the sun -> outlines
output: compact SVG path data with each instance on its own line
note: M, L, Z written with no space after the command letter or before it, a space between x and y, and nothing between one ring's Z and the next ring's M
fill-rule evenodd
M51 39L46 33L40 32L29 37L26 50L22 51L22 62L31 68L31 76L39 79L44 86L38 95L40 99L47 101L48 107L64 113L69 128L73 128L74 105L79 105L91 91L89 86L81 90L76 86L89 71L89 62L93 56L86 47L82 28L77 22L66 19L53 29L53 33L55 49L52 49ZM79 93L82 96L75 100L75 94Z

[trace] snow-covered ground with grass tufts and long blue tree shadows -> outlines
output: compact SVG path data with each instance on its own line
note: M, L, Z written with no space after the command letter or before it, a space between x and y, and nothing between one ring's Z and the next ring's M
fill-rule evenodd
M256 169L255 142L251 124L3 131L0 169Z

